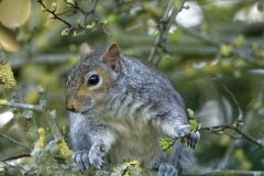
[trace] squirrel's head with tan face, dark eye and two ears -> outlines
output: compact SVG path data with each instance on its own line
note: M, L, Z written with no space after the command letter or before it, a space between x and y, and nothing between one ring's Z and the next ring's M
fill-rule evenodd
M117 44L105 52L91 52L82 44L80 53L80 62L68 75L65 107L82 113L106 101L109 88L121 72L121 53Z

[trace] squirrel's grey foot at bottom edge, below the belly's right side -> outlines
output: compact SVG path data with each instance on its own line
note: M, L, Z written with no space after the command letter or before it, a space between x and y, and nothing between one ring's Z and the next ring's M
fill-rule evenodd
M178 170L174 166L165 163L155 163L152 169L157 170L157 176L177 176L178 175Z

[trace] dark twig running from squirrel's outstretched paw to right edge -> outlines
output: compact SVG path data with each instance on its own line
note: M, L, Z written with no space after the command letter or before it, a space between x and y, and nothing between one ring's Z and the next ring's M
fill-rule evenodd
M246 139L250 142L252 142L253 144L257 145L262 151L264 151L264 145L261 142L256 141L255 139L253 139L250 135L242 132L240 129L232 127L230 124L219 124L219 125L209 127L209 128L200 128L200 130L208 130L208 131L215 132L215 133L217 133L219 131L224 131L226 129L234 130L241 136L243 136L244 139Z

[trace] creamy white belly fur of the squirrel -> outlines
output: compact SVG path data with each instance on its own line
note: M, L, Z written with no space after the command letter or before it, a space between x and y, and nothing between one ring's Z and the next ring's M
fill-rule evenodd
M141 117L138 117L141 119ZM152 122L108 121L107 129L114 141L108 151L107 160L110 163L139 161L141 165L151 167L163 152L158 145L160 132ZM109 136L108 136L109 138ZM110 140L110 139L108 139Z

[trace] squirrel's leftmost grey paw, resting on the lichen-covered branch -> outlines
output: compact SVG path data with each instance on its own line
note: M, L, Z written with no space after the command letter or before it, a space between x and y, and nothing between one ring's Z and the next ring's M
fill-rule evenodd
M78 151L73 153L73 160L78 165L81 172L89 169L88 151Z

